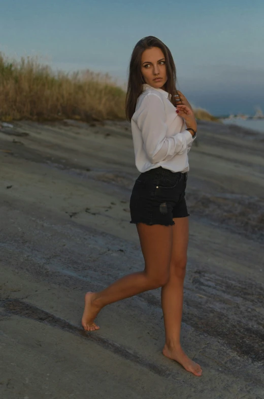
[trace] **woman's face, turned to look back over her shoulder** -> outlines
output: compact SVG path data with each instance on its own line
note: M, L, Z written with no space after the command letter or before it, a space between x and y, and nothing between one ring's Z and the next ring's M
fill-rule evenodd
M155 88L164 89L167 81L164 54L159 47L148 48L141 55L141 73L145 82ZM160 80L154 80L160 77Z

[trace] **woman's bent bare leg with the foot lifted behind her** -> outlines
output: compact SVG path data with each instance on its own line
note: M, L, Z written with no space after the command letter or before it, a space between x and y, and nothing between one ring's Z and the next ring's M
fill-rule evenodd
M94 319L104 306L161 287L169 279L173 226L148 226L143 223L136 226L145 260L145 269L125 275L103 291L86 293L82 325L87 331L99 328L94 323Z

